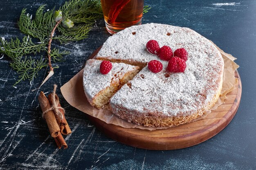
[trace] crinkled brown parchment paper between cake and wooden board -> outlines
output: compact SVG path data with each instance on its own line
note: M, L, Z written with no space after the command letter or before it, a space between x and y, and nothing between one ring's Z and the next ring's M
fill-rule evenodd
M215 106L213 106L212 110L215 110L218 106L220 106L223 103L224 99L227 98L226 94L234 90L238 82L238 79L234 77L234 72L239 67L234 62L236 58L230 54L225 53L219 48L218 50L220 51L223 57L223 60L225 62L225 68L224 68L224 74L223 74L223 84L222 84L221 95L220 95L220 98L218 99L218 102L215 104ZM97 85L95 84L95 86ZM83 69L79 73L77 73L72 79L70 79L69 82L67 82L61 87L61 93L71 106L77 108L83 113L96 117L102 121L105 121L107 124L114 124L117 126L122 126L124 128L140 128L140 129L147 129L147 130L161 129L161 127L160 128L145 127L145 126L140 126L134 123L130 123L124 119L120 119L116 115L113 115L110 110L97 109L92 107L89 104L88 100L86 99L85 93L83 91ZM207 117L209 113L211 112L209 111L205 113L203 116L199 117L198 119L195 119L194 121ZM169 127L164 127L164 128L169 128Z

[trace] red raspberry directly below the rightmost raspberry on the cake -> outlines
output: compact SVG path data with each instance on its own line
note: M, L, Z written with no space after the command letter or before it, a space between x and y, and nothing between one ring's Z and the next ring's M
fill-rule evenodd
M171 72L184 72L185 68L186 62L180 57L172 57L167 66L168 71Z

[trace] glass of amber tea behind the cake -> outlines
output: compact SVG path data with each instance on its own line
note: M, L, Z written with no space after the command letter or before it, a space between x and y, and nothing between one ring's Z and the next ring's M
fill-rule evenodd
M101 0L106 28L114 34L132 25L140 25L144 0Z

